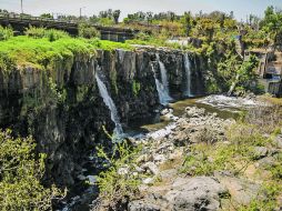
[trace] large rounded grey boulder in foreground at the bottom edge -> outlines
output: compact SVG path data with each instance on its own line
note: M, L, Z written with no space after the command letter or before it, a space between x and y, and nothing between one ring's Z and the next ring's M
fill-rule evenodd
M223 194L228 194L228 190L215 179L197 177L177 180L165 199L175 211L218 210Z

